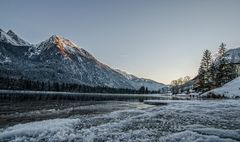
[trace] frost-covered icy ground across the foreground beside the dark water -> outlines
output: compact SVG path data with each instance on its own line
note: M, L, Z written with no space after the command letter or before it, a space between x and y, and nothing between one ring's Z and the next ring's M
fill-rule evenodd
M108 111L72 114L0 129L0 141L240 141L240 100L164 100L167 105L138 102L85 105ZM116 107L119 106L119 107ZM113 108L111 111L111 107ZM116 109L117 108L117 109ZM50 110L68 112L71 108ZM41 115L41 111L4 114ZM1 116L3 117L3 115Z

